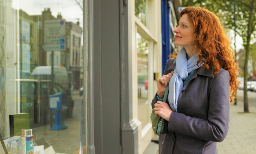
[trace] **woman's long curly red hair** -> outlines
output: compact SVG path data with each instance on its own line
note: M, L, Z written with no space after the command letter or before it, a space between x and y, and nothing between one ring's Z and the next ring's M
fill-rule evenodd
M200 59L197 65L202 61L203 65L200 68L207 68L212 74L218 74L221 67L229 71L230 102L233 104L237 86L240 84L237 73L241 70L234 61L229 38L219 18L213 12L201 7L183 9L179 14L179 20L183 14L189 16L189 20L196 28L193 41L196 44L195 48L198 48L197 55ZM178 52L170 56L177 57L177 54Z

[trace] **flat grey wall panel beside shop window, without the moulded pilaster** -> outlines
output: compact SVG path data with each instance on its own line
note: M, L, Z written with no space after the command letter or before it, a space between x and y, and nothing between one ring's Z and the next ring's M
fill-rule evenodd
M94 0L94 145L121 153L119 0Z

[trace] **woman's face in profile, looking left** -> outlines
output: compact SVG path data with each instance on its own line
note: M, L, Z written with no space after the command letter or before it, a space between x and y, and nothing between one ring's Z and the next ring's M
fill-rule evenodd
M183 14L179 20L179 24L173 30L173 32L176 33L174 44L184 47L185 49L193 49L195 47L195 43L192 40L194 38L195 31L196 28L188 19L188 15Z

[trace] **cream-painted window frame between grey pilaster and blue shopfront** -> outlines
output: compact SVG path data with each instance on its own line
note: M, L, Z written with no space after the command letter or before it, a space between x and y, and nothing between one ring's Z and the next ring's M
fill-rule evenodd
M129 4L131 7L129 7ZM143 154L153 138L150 114L152 111L151 100L157 91L156 81L153 74L161 72L162 60L162 34L161 34L161 1L146 0L146 25L135 16L135 0L128 4L128 48L132 55L132 118L138 126L138 153ZM142 128L138 120L138 79L137 79L137 47L136 33L140 34L149 42L148 54L148 124Z

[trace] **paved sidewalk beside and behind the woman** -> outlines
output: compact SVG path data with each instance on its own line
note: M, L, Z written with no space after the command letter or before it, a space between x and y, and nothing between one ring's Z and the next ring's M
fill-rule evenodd
M218 154L256 154L256 108L249 107L250 113L243 111L240 100L230 106L229 132L223 142L217 143ZM158 144L151 142L144 154L158 154Z

